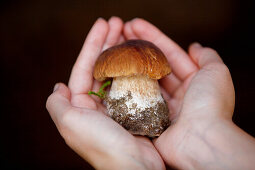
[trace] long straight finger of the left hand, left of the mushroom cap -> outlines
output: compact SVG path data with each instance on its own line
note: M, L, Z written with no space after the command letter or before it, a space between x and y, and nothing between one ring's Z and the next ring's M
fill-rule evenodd
M84 94L91 90L93 67L101 53L108 30L107 22L101 18L91 28L71 73L69 88L72 94Z

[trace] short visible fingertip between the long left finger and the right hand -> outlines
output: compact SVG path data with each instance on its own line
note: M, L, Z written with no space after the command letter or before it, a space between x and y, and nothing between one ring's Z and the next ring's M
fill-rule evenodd
M108 21L109 33L107 35L103 50L116 45L120 41L123 29L123 21L119 17L111 17Z

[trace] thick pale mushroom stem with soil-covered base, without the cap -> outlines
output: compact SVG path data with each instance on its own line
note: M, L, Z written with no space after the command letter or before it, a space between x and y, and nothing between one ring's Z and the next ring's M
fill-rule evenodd
M147 76L114 78L106 104L109 115L133 134L159 136L169 125L158 81Z

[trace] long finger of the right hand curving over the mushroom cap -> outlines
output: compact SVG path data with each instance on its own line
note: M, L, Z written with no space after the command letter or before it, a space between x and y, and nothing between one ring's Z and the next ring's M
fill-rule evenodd
M197 71L197 66L186 52L149 22L143 19L134 19L125 25L124 33L128 39L137 37L158 46L166 55L173 73L178 79L185 80L190 74Z

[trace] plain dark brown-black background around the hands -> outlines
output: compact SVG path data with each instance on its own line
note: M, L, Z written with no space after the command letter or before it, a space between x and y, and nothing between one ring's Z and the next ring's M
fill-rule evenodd
M241 0L9 0L0 6L0 169L92 169L67 147L45 102L68 82L98 17L142 17L185 50L193 41L216 49L236 90L233 120L255 136L254 12Z

